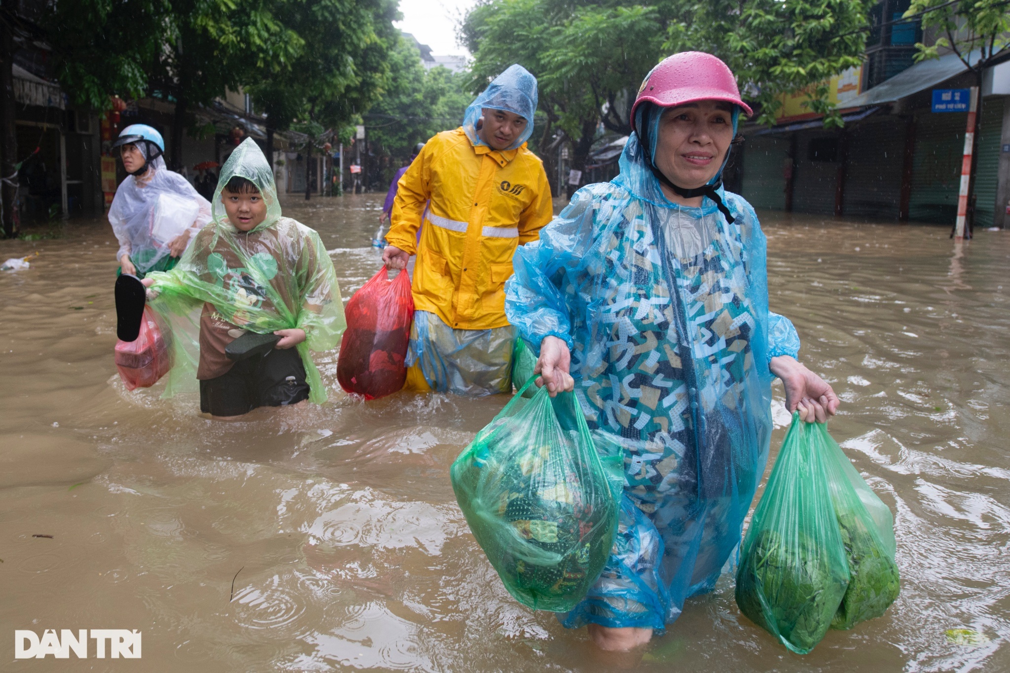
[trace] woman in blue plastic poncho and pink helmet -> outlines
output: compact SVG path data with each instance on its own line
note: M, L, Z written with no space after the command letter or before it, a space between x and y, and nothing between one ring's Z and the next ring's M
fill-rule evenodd
M563 618L604 650L647 642L714 587L765 469L773 378L806 421L838 407L769 311L753 209L722 189L741 112L721 61L665 60L638 92L620 175L518 248L506 287L538 382L574 387L597 449L624 456L613 553Z

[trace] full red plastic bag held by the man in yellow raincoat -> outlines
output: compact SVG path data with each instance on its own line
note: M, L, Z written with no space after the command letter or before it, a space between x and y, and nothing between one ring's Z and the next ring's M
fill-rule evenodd
M375 400L396 392L407 379L407 341L414 318L410 277L389 279L384 266L355 293L344 311L347 329L336 358L336 380L347 392Z

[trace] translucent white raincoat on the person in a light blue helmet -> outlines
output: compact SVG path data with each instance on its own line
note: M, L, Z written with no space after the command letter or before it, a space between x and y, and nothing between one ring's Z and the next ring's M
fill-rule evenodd
M137 148L143 152L141 145ZM142 177L127 176L109 208L109 224L119 241L116 259L128 254L141 274L170 255L169 243L189 232L189 243L210 222L210 202L189 181L169 171L161 156Z

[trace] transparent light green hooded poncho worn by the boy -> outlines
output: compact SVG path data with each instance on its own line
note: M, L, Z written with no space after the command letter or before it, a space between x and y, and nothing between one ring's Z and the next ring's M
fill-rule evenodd
M221 189L234 176L252 182L267 204L267 218L248 232L232 226L221 203ZM165 397L191 388L195 381L199 346L193 338L193 314L206 303L249 332L305 330L306 339L297 348L311 388L309 401L325 402L326 390L309 351L335 348L345 327L336 271L319 234L281 216L270 163L251 138L225 161L211 207L210 224L200 230L179 264L147 276L157 293L150 306L169 320L177 337Z

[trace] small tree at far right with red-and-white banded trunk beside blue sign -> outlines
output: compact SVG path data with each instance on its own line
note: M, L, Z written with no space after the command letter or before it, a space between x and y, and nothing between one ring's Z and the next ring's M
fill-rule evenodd
M940 51L949 51L965 64L975 79L979 99L975 115L974 144L972 145L972 173L968 183L968 204L975 205L975 167L979 156L979 133L982 130L982 77L997 55L1010 45L1010 14L1006 0L912 0L905 17L920 16L922 29L932 35L931 43L916 43L916 61L938 59ZM968 237L971 238L974 218L969 219ZM955 225L956 226L956 225ZM951 232L953 236L954 232Z

